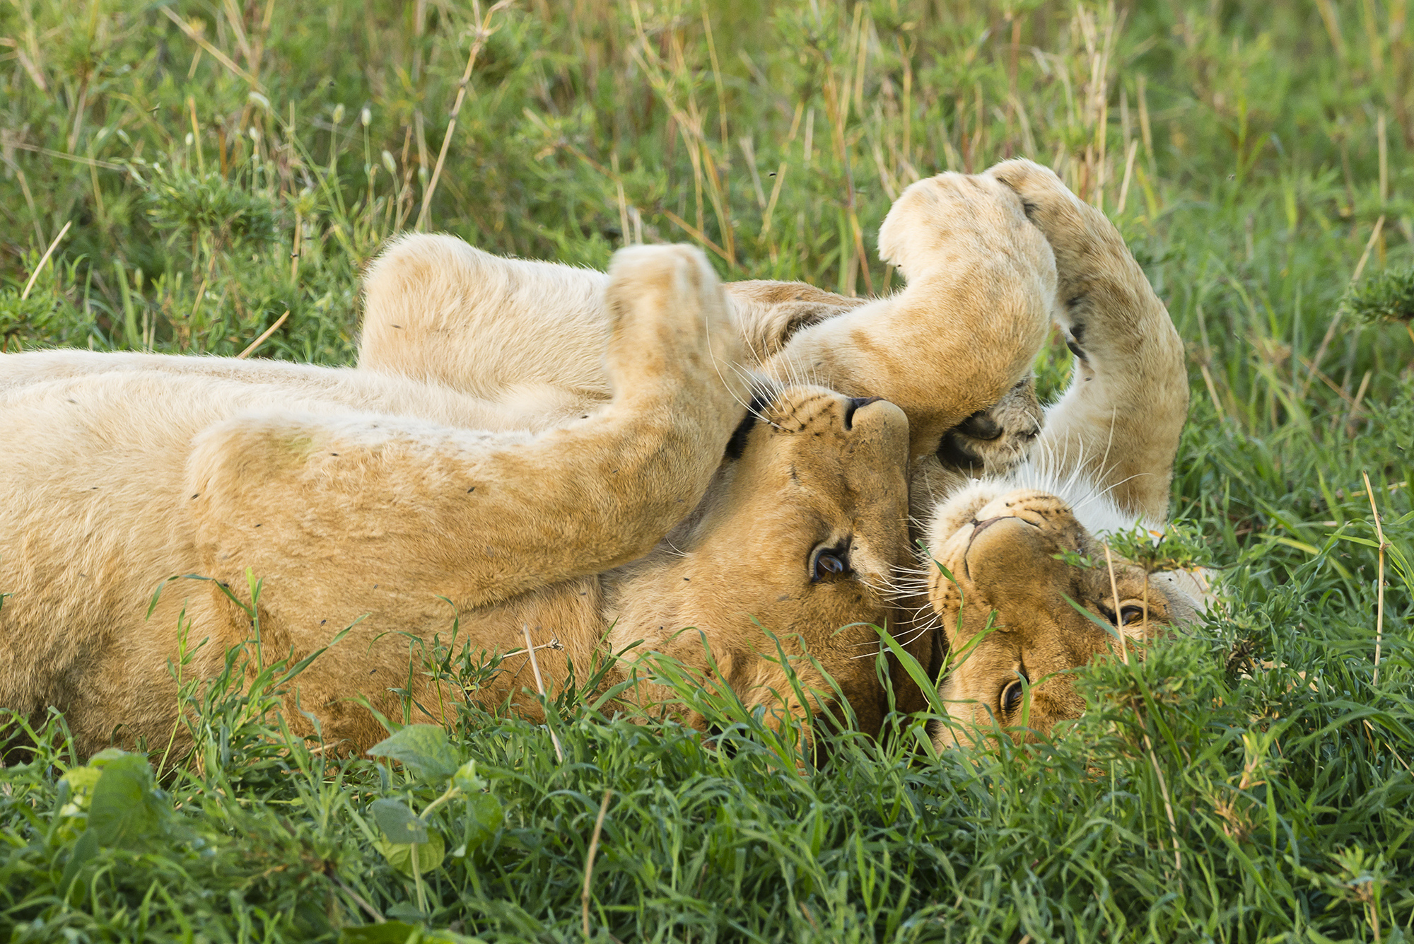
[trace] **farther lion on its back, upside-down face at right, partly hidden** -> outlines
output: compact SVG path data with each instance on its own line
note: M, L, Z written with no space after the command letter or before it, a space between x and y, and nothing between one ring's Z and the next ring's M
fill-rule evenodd
M981 177L946 177L997 202L1004 201L988 188L998 185L1019 199L1053 250L1055 287L1008 283L998 247L976 239L954 243L947 267L967 291L935 294L932 305L915 304L902 318L887 300L861 302L795 283L727 290L749 365L778 377L823 376L840 390L888 396L905 410L911 507L923 521L928 554L916 591L896 598L892 629L935 677L949 650L970 650L940 687L964 731L991 719L1011 726L1022 716L1031 729L1046 731L1083 708L1066 670L1110 651L1114 640L1070 601L1128 637L1189 622L1202 605L1203 588L1184 574L1145 579L1117 561L1111 585L1109 570L1060 560L1066 551L1104 560L1104 531L1135 521L1164 526L1188 410L1182 342L1114 226L1052 171L1008 161ZM977 213L978 206L959 201L946 211ZM984 219L1003 228L995 213ZM949 222L963 228L969 220ZM891 212L880 233L881 254L899 261L908 278L895 298L928 280L909 271L908 254L895 249L906 235L902 223ZM1012 240L1001 250L1017 254L1024 244ZM584 408L602 397L601 281L598 273L499 259L447 236L406 237L369 271L359 363L482 396L533 391L567 411ZM1044 430L1025 400L1025 369L1039 348L1039 341L1029 346L1029 325L1017 325L1017 339L1025 341L1001 350L988 345L1007 336L1004 328L966 329L978 324L976 307L986 307L990 293L1008 290L1031 300L1011 301L1014 309L1055 311L1076 353L1070 389L1046 410ZM1018 349L1029 353L1017 358ZM960 379L967 390L939 377ZM971 428L959 428L970 414ZM993 415L1008 421L1007 435L995 435ZM988 441L976 432L991 432L1003 448L980 458ZM978 472L986 472L981 480L969 475ZM986 633L980 642L978 633ZM953 738L937 735L940 746Z

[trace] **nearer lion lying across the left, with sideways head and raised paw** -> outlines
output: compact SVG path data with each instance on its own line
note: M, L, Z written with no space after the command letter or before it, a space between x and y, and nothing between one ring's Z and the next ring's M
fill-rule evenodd
M583 671L636 639L701 673L703 642L674 636L696 626L748 705L779 694L800 714L752 620L764 615L788 654L809 649L861 724L877 725L872 663L851 659L877 637L837 627L888 615L904 547L904 414L776 387L741 458L721 462L748 384L723 369L744 356L741 331L701 254L625 250L595 305L611 399L539 431L523 401L361 370L0 356L0 588L13 594L0 609L0 704L62 708L83 752L165 741L178 613L192 643L211 640L191 667L201 675L252 627L211 584L167 586L151 619L147 602L182 574L249 599L249 570L264 579L267 660L298 659L356 623L287 694L301 709L287 721L312 733L311 712L325 741L370 745L383 732L354 698L397 715L399 687L411 690L414 718L441 721L465 697L510 695L536 712L520 694L525 656L478 692L421 674L409 650L434 635L450 642L452 608L457 644L472 653L520 649L522 626L537 643L559 639L563 650L539 653L551 687L570 660ZM812 579L817 548L840 541L853 570Z

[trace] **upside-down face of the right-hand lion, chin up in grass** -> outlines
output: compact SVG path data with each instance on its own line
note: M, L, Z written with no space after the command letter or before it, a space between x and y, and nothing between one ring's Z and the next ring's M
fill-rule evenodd
M939 694L962 722L935 736L939 748L974 741L994 722L1044 733L1079 716L1085 700L1072 668L1118 654L1121 639L1143 642L1195 613L1172 578L1145 579L1128 561L1113 560L1111 584L1104 545L1048 492L977 483L937 509L929 551L953 577L933 565L928 595L952 659ZM1019 742L1022 733L1012 738Z

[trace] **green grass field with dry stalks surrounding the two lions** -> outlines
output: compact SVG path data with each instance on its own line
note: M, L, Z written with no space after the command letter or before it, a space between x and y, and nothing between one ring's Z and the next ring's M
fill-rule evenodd
M707 749L568 692L563 760L550 729L468 711L450 743L402 735L392 767L283 733L276 667L188 685L195 755L174 769L150 745L95 786L54 716L0 770L0 938L1410 940L1406 18L1406 0L0 7L8 350L235 353L288 311L260 356L346 363L358 274L413 228L592 266L696 242L724 277L878 293L902 187L1049 164L1188 342L1175 513L1232 595L1145 663L1086 670L1093 709L1025 750L933 757L912 721L812 770L730 704L704 705L725 729ZM437 834L416 878L379 834L399 817Z

